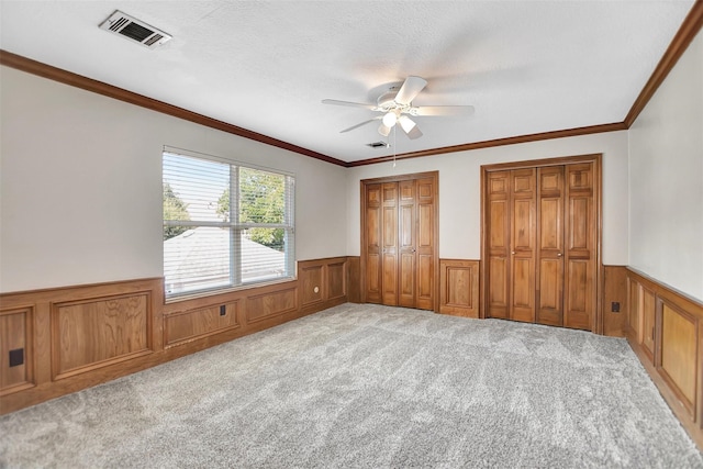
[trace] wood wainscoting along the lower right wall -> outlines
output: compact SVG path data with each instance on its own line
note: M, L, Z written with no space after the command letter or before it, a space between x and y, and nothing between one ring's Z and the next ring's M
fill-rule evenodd
M703 448L703 303L627 269L627 340Z

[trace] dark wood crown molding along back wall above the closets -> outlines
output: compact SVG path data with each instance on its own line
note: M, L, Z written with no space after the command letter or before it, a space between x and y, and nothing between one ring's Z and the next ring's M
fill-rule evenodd
M567 129L562 131L542 132L537 134L518 135L514 137L496 138L491 141L465 143L454 146L445 146L440 148L429 148L420 152L403 153L395 155L395 159L420 158L423 156L444 155L447 153L467 152L470 149L491 148L494 146L516 145L521 143L538 142L554 138L566 138L580 135L600 134L604 132L626 131L627 126L623 122L614 122L612 124L590 125L587 127ZM381 156L378 158L364 159L360 161L352 161L347 167L375 165L377 163L392 161L393 156Z

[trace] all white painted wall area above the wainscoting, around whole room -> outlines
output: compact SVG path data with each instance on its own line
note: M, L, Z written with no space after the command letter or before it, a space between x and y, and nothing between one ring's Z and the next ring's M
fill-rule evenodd
M294 172L298 259L359 255L359 180L429 170L439 171L440 257L478 259L481 165L602 153L604 264L703 299L702 43L699 34L629 131L395 168L339 168L1 67L0 291L161 276L169 145Z

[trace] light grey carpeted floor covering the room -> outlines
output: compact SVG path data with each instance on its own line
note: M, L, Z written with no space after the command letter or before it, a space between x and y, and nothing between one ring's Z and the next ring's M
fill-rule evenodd
M0 417L9 468L703 468L624 339L344 304Z

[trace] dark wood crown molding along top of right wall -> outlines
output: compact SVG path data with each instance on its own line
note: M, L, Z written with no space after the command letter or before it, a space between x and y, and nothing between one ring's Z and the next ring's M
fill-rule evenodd
M632 127L635 123L639 113L645 109L677 62L679 62L679 58L681 58L689 47L689 44L691 44L691 41L693 41L699 31L701 31L701 27L703 27L703 0L696 0L685 16L685 20L681 23L681 27L679 27L676 36L673 36L667 52L661 57L661 60L659 60L657 68L655 68L651 77L649 77L649 80L645 83L645 87L625 116L623 123L627 129Z

